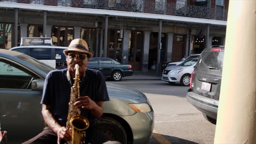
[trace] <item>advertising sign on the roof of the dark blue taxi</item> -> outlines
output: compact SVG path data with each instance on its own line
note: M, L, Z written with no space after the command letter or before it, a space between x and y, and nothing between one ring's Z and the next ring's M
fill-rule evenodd
M29 45L46 45L52 46L53 40L51 38L21 38L20 46L29 46Z

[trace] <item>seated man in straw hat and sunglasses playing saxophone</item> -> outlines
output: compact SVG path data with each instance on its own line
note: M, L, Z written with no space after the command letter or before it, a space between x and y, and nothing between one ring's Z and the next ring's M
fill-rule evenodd
M103 113L103 101L109 100L106 82L101 71L86 69L92 53L83 39L71 41L66 55L67 69L53 70L45 79L42 104L42 115L47 127L42 133L24 143L65 143L72 140L71 131L66 128L68 103L71 87L74 84L75 64L79 65L80 97L73 106L80 109L80 115L89 120L86 129L85 143L104 143L110 138L94 129L97 118Z

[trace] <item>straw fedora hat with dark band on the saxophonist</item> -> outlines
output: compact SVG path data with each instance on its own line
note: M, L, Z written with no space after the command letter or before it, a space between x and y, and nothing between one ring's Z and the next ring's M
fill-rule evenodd
M78 51L88 54L88 58L91 58L94 56L91 52L89 52L88 45L85 40L83 39L73 39L71 43L68 46L67 50L64 50L63 52L65 55L68 55L68 52L70 51Z

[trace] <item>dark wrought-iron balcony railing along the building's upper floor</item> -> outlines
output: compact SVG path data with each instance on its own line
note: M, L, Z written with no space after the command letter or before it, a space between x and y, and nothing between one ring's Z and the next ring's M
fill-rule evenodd
M40 5L55 5L58 7L76 7L91 9L107 9L198 17L203 19L227 20L227 9L214 9L196 5L154 2L147 0L0 0L0 2L31 3Z

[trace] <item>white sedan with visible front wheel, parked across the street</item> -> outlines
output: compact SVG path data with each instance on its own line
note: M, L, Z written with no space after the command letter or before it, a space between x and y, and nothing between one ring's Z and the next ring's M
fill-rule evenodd
M188 59L179 65L168 66L162 71L162 80L169 83L180 82L183 86L190 85L190 75L198 58Z

